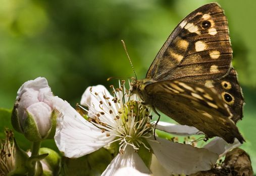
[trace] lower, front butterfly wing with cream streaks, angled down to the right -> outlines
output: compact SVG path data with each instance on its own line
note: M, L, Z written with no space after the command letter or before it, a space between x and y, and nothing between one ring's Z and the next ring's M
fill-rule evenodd
M208 137L220 136L229 143L244 141L222 99L207 87L188 82L165 80L145 86L154 106L182 125L194 126Z

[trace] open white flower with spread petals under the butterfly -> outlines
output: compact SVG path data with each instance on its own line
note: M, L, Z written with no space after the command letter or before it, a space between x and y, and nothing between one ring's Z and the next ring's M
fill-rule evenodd
M53 99L62 116L57 120L55 141L66 157L80 157L100 147L119 142L119 154L102 175L114 175L120 168L131 167L150 173L137 151L141 146L152 149L158 162L168 174L190 174L208 170L218 154L189 144L175 143L156 137L150 123L150 113L136 95L130 95L124 84L115 90L114 97L103 85L88 87L81 104L88 107L88 121L60 98ZM175 134L200 133L193 127L159 123L163 130ZM158 127L157 126L157 127Z

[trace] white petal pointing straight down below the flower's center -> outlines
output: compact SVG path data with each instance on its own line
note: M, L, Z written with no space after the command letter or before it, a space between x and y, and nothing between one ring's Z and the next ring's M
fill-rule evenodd
M124 154L118 154L108 165L101 176L115 175L120 168L132 167L142 173L150 173L145 163L139 157L138 153L134 152L132 147L127 147Z

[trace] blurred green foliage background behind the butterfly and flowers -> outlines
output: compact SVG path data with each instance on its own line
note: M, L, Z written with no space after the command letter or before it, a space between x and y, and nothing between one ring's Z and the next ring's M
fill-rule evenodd
M233 65L246 102L238 123L246 139L242 148L256 169L256 3L217 2L229 21ZM54 94L72 106L89 85L108 86L117 82L108 82L110 76L133 76L121 39L138 77L144 78L176 25L207 3L211 1L0 0L0 107L11 109L20 85L38 76L46 77ZM1 129L10 125L8 113L1 116ZM17 137L24 148L30 145ZM43 145L56 149L53 141Z

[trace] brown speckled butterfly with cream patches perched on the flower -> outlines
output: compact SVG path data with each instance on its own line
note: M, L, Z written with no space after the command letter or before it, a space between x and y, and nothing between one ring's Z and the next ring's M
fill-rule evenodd
M179 23L131 92L206 138L243 143L236 122L242 119L244 99L231 61L226 16L218 4L207 4Z

